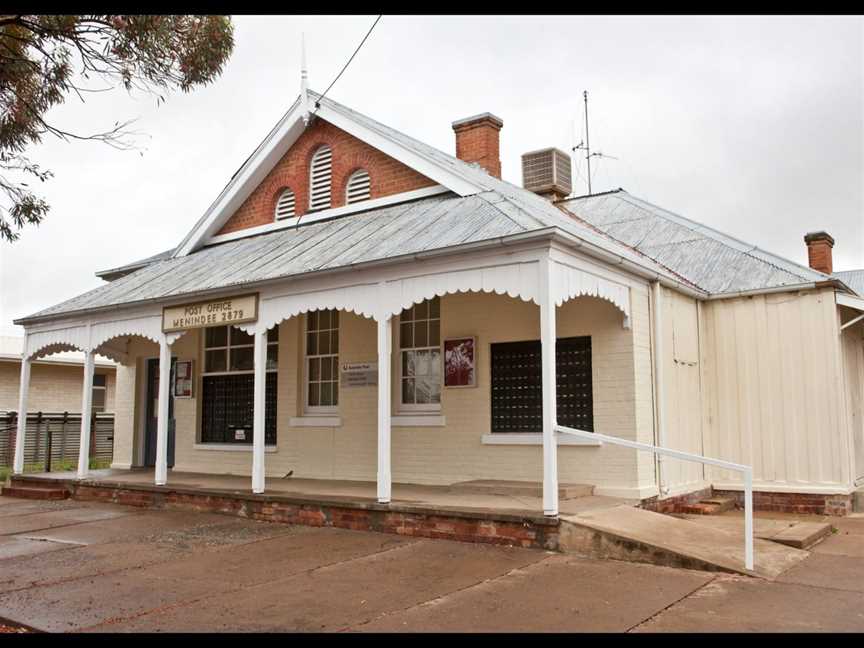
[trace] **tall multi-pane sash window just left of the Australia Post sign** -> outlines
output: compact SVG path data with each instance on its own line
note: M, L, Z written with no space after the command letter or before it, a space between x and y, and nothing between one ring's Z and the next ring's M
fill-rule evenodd
M339 405L339 311L306 315L306 409L333 411Z

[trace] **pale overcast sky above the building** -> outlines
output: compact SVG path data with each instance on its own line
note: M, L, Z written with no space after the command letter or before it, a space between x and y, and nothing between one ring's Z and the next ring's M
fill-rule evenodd
M0 243L0 334L13 318L100 285L94 272L174 247L299 91L300 34L322 92L374 16L238 16L215 84L157 107L124 90L50 113L90 132L137 118L143 155L46 141L55 177L38 228ZM807 263L834 236L834 268L864 267L861 17L421 17L385 15L329 96L448 153L450 123L504 120L502 175L520 155L583 137L615 156L595 192L630 193ZM576 193L587 193L584 160Z

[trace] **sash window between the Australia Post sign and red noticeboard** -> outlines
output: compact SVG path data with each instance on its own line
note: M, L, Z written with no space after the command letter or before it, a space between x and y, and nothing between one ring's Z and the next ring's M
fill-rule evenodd
M399 316L399 380L407 410L441 406L441 303L438 297L402 311Z

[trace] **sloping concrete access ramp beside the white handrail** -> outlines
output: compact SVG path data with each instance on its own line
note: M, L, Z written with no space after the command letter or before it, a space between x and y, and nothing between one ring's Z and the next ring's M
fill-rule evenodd
M559 547L592 558L776 578L809 553L754 541L754 569L744 567L743 532L697 524L630 506L562 515Z

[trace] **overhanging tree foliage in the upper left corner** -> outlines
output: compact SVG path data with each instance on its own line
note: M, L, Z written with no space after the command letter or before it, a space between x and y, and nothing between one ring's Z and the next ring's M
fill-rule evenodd
M44 182L51 171L24 155L44 135L130 148L131 122L82 135L48 123L52 107L70 94L83 102L119 84L153 93L157 102L162 92L206 85L228 61L233 32L227 16L0 14L0 240L16 240L48 213L26 180ZM87 87L94 78L108 87Z

